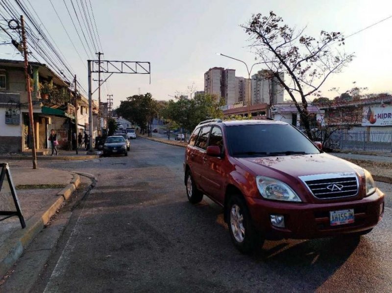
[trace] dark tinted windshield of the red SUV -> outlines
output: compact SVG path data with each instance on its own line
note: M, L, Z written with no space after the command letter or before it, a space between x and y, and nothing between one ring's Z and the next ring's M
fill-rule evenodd
M233 157L320 153L304 135L288 124L227 126L226 137Z

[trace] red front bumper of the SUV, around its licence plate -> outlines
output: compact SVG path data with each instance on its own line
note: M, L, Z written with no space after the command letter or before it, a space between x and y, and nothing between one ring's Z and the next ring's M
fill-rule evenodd
M339 203L285 203L246 198L253 223L266 239L311 239L368 230L384 214L384 193L374 194L358 201ZM331 226L329 212L354 209L354 223ZM285 227L271 225L270 215L284 215Z

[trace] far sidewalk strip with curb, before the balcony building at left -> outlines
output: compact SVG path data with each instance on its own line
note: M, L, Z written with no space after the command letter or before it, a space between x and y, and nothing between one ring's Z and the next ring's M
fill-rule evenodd
M48 155L37 155L37 160L87 160L87 159L95 159L99 158L99 155L87 155L87 151L85 149L79 149L78 154L76 155L76 151L64 151L59 150L58 156L51 156L51 152ZM23 160L23 159L32 159L31 153L23 153L23 154L0 154L0 160Z

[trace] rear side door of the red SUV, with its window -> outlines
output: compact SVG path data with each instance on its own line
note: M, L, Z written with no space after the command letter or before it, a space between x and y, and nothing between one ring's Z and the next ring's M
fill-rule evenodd
M203 126L199 132L197 137L197 141L195 143L195 149L191 160L193 162L193 168L191 167L192 174L194 176L194 180L196 182L197 187L205 191L206 189L206 180L203 176L204 173L204 158L206 156L206 149L208 143L208 137L211 131L211 126Z

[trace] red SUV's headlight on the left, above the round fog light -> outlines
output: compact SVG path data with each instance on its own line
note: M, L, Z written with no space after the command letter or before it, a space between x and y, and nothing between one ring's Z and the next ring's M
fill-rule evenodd
M264 176L257 176L256 184L260 194L265 199L287 202L301 202L301 199L296 195L293 189L280 180Z

